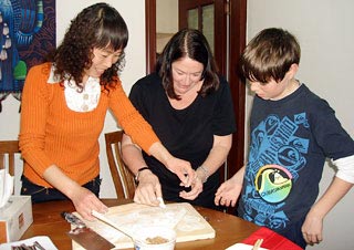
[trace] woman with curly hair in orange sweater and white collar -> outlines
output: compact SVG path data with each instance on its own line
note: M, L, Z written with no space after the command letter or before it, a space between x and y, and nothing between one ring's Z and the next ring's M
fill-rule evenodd
M169 154L123 91L118 72L127 41L121 14L96 3L71 22L50 62L30 70L19 138L21 194L31 195L32 202L69 198L85 219L93 219L92 210L107 209L97 197L98 136L108 108L135 143L190 185L190 164Z

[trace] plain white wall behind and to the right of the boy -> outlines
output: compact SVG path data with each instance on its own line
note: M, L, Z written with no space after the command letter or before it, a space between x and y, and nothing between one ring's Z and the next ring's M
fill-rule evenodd
M269 27L288 29L302 46L298 79L336 111L343 127L354 137L354 1L342 0L248 0L248 40ZM247 112L252 97L247 96ZM246 134L247 135L247 134ZM333 170L325 166L321 192ZM353 189L326 216L324 241L310 250L354 249Z

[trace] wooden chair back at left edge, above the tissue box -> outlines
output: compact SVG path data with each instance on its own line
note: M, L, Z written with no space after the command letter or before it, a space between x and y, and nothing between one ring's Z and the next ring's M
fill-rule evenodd
M14 176L14 156L20 154L19 140L0 140L0 169L4 169L6 158L9 164L9 174Z

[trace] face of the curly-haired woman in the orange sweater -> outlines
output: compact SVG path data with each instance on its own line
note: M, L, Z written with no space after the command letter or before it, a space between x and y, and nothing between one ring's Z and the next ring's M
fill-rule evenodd
M92 65L85 70L85 75L92 77L100 77L105 70L110 69L116 63L121 56L122 50L113 51L110 48L93 49Z

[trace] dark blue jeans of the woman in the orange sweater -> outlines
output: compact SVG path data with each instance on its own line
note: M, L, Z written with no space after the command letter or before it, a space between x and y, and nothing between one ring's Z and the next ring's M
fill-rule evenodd
M23 175L21 177L21 181L22 181L21 195L31 196L32 204L69 199L64 194L62 194L58 189L46 188L46 187L35 185ZM92 191L93 194L95 194L95 196L98 197L101 181L102 179L100 179L100 176L97 176L93 180L90 180L88 183L83 185L83 187L87 188L90 191Z

